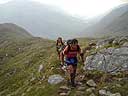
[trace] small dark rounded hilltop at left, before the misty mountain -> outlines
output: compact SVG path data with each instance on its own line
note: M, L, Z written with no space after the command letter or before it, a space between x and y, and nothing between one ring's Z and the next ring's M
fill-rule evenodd
M11 24L11 23L0 24L0 39L16 41L16 40L28 39L31 37L32 35L30 35L26 30L15 24Z

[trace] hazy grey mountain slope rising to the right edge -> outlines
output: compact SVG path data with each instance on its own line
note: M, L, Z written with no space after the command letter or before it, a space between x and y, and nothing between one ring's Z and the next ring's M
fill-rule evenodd
M128 4L113 9L97 24L85 29L92 37L119 36L128 34Z

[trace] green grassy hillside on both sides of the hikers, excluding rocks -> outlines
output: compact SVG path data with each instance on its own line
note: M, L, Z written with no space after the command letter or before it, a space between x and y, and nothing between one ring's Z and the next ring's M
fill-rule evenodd
M8 37L12 38L10 35ZM78 40L80 46L85 47L94 39L79 38ZM66 81L50 85L47 80L53 74L64 77L64 73L58 69L59 63L55 41L39 37L0 39L0 96L58 96L60 86L66 85ZM38 71L40 65L43 65L41 72ZM83 71L82 68L83 65L79 62L76 81L81 82L85 87L84 96L90 94L86 92L89 88L86 82L89 79L97 83L94 90L96 96L99 96L98 90L103 87L107 87L107 90L110 89L114 93L120 92L122 96L128 94L127 81L120 79L127 77L126 73L110 75L98 71ZM83 76L84 78L81 78ZM120 84L121 87L113 87L116 84L118 86ZM72 89L69 96L83 96L77 91L77 88Z

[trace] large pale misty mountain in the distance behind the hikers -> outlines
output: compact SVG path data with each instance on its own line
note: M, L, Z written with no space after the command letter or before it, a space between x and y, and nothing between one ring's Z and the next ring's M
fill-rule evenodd
M34 36L45 38L55 39L60 35L69 38L85 28L82 20L62 10L29 0L13 0L0 5L0 13L1 22L15 23Z

